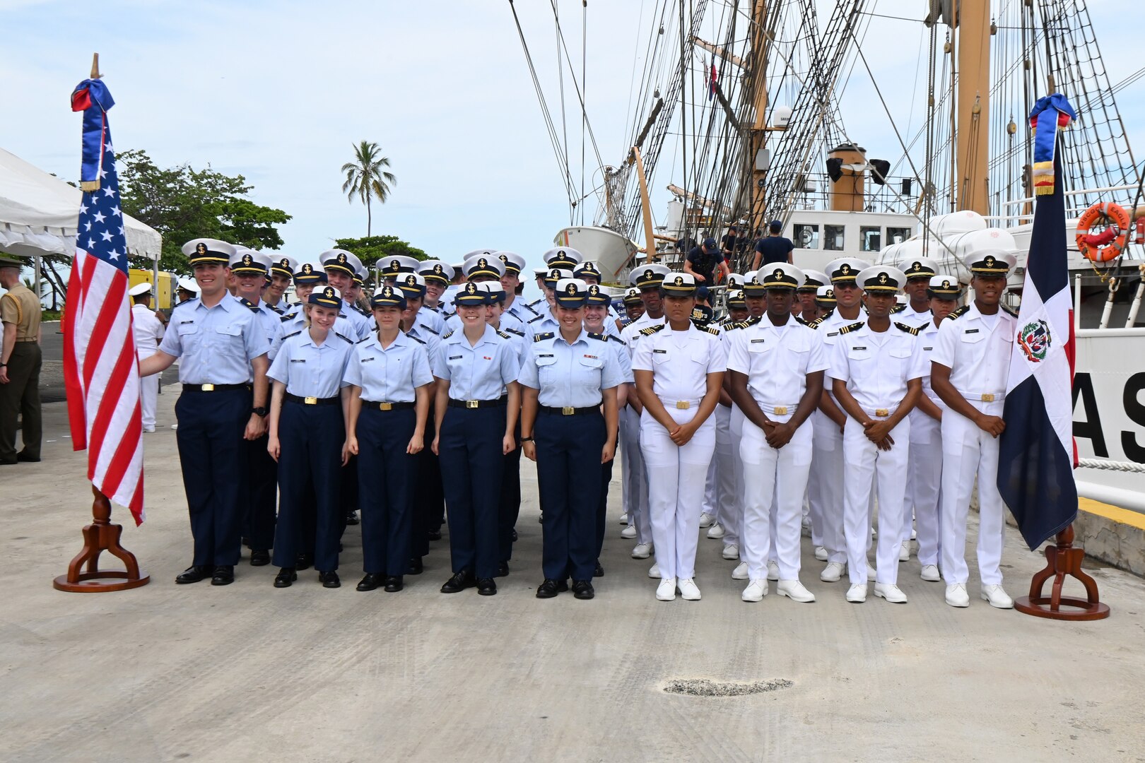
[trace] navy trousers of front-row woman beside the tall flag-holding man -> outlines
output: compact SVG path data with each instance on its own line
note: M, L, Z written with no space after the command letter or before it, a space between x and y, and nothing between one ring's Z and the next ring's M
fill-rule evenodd
M275 566L293 567L300 551L310 553L300 541L309 532L308 515L313 506L314 569L319 572L338 569L338 541L345 518L339 490L345 442L341 405L283 402L278 416L279 503L274 535ZM308 488L314 491L313 504Z

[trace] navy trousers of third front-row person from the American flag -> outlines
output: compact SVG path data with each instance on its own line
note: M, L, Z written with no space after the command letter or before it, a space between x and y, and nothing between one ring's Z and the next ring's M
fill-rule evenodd
M358 487L365 572L403 575L413 555L413 485L418 456L405 448L417 412L363 408L358 414Z

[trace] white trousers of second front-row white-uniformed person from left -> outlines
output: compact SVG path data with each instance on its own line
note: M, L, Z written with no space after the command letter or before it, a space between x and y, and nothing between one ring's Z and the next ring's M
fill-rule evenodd
M788 416L769 414L776 421ZM743 422L740 458L743 459L743 528L740 551L748 563L748 577L767 578L767 562L780 565L780 580L799 578L799 541L803 494L811 472L812 424L804 422L791 442L775 450L761 430Z

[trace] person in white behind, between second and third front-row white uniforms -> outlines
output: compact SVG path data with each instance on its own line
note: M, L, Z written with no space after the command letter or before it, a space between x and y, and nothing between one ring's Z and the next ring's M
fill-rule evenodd
M855 284L855 276L870 263L854 257L839 257L827 263L827 277L831 279L830 289L836 305L811 327L823 344L823 355L828 363L839 329L862 319L862 291ZM822 288L822 287L820 287ZM816 296L818 299L818 296ZM829 376L830 374L828 374ZM812 525L819 518L822 527L823 550L827 553L827 565L819 574L824 582L837 582L846 570L847 546L843 537L843 432L847 415L835 402L832 384L823 382L823 397L819 410L812 415L814 427L812 437L811 477L807 480L807 502L811 509ZM816 558L819 558L816 553Z

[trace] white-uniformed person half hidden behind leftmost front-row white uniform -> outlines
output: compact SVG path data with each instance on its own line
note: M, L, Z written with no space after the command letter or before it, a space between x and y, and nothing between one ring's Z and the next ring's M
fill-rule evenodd
M654 263L629 273L629 283L637 288L643 311L621 332L621 339L629 350L629 358L635 345L643 339L641 329L664 323L664 301L660 293L660 284L664 276L672 272L666 265ZM635 377L625 395L627 405L621 412L621 431L623 438L624 461L627 469L624 477L624 512L629 516L629 525L621 531L621 538L635 540L632 548L633 559L647 559L652 556L652 522L648 518L648 472L643 466L643 454L640 452L640 416L643 405L637 395Z

